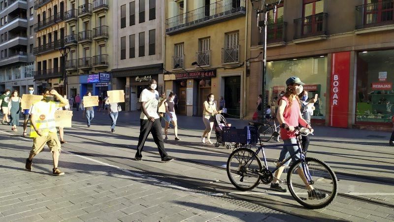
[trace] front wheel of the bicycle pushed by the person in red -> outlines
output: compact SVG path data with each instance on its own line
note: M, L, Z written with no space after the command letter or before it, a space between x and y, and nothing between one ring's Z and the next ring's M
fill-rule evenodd
M305 163L304 170L300 159L290 166L287 173L289 191L296 201L306 208L326 207L338 193L336 175L327 163L320 159L307 157ZM308 190L306 186L308 182L305 174L308 173L312 180L309 186L312 186L313 190Z

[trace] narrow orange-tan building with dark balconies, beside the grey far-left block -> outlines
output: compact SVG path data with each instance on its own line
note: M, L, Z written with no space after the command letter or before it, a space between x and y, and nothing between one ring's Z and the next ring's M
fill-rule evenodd
M35 0L36 24L35 71L36 92L42 93L45 87L53 87L65 95L63 67L64 60L59 48L64 46L66 4L64 0Z

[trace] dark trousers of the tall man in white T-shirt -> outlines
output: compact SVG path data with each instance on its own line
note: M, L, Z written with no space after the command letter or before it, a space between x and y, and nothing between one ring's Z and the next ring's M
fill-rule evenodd
M152 132L153 140L155 141L157 148L159 149L159 153L162 159L167 157L168 155L164 150L162 125L160 123L160 119L155 119L155 122L140 119L140 124L141 127L139 128L137 153L135 153L135 157L142 158L142 149L144 148L146 138L148 137L150 132Z

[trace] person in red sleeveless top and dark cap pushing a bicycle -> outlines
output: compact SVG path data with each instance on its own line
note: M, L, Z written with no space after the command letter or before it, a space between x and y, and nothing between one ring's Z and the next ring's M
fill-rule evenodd
M297 143L296 140L296 129L298 125L302 127L308 128L311 132L313 132L312 127L302 118L302 114L300 111L300 101L298 95L302 93L304 85L303 82L298 77L290 77L286 80L286 92L283 97L281 97L278 101L279 107L277 112L277 119L280 124L280 136L283 139L284 147L280 152L279 163L286 159L286 155L290 153L290 155L294 155L298 151L298 147L293 144ZM299 153L294 156L293 161L296 161L300 158ZM279 184L280 176L285 168L285 165L288 166L290 160L287 161L283 166L279 167L279 169L275 172L274 179L271 183L271 190L277 190L280 192L287 192L286 188L282 188ZM301 168L297 169L298 175L301 177L304 182L306 188L308 189L308 197L321 199L325 198L326 194L320 191L314 190L313 186L308 184L305 175Z

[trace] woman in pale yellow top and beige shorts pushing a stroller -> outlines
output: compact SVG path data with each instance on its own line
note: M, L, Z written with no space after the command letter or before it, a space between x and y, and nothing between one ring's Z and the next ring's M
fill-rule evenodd
M213 102L214 98L213 94L209 94L207 100L203 104L202 121L204 122L205 130L201 136L202 143L212 144L211 131L213 128L214 115L221 113L221 111L218 112L216 110L216 104ZM206 139L205 135L207 135Z

